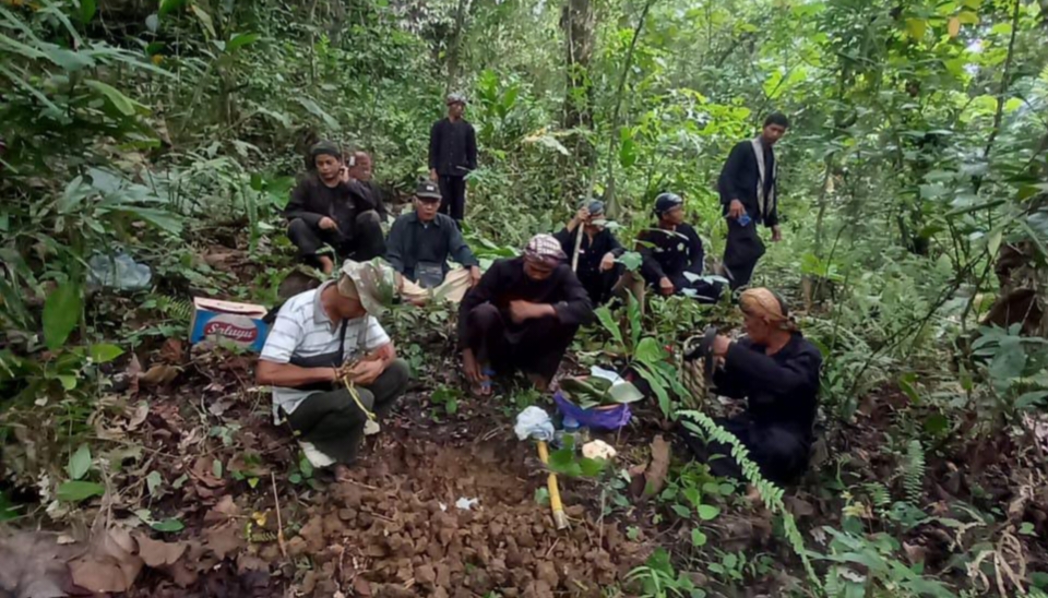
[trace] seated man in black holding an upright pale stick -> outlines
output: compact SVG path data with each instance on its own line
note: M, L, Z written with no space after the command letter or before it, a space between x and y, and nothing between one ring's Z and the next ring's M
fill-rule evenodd
M604 202L588 200L582 202L579 213L568 226L555 235L594 306L602 306L611 299L611 289L622 277L624 270L616 259L622 255L626 249L605 227L605 223ZM580 235L582 243L577 246L576 264L573 253Z

